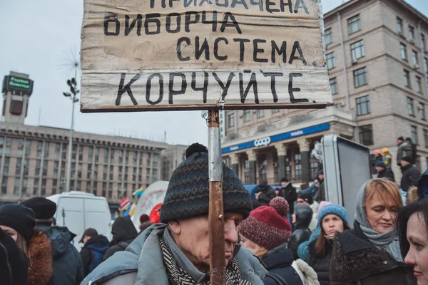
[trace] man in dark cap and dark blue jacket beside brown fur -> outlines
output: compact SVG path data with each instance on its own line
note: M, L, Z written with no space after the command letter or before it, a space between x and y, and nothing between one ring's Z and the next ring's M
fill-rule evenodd
M80 254L71 240L76 237L66 227L52 226L52 217L56 212L56 204L44 197L34 197L22 202L33 209L36 216L36 229L44 232L51 240L54 258L53 284L75 285L83 279L83 265Z

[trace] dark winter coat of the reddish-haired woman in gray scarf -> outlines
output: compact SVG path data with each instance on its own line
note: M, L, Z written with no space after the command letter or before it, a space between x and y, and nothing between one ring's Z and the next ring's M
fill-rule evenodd
M336 234L330 261L331 285L416 285L412 266L369 242L360 225Z

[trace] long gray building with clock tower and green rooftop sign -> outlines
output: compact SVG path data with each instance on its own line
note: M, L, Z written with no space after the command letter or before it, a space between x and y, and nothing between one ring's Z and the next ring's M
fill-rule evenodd
M21 73L9 76L29 78ZM3 91L0 204L65 191L69 159L71 190L106 197L110 204L118 204L123 197L131 197L134 190L147 187L161 177L169 180L168 175L162 173L161 153L173 146L74 132L72 154L68 157L70 130L24 125L31 93L9 87Z

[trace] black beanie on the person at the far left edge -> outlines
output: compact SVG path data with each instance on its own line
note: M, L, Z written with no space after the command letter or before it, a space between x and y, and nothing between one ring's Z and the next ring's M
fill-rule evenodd
M0 225L10 227L27 241L31 237L35 224L32 209L21 204L5 204L0 207Z

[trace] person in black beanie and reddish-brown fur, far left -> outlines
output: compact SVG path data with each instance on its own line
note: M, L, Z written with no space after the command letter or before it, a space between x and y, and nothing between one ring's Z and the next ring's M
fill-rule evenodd
M34 229L34 212L21 204L0 207L0 229L9 234L28 259L27 285L46 285L52 277L51 241Z

